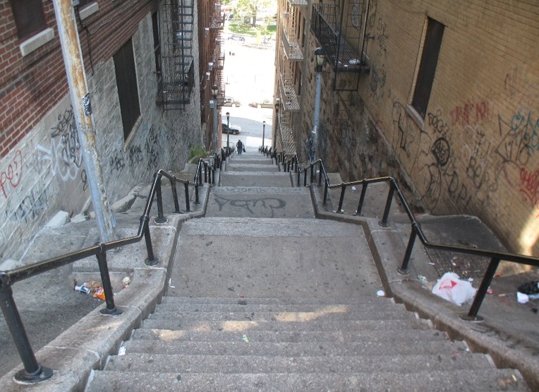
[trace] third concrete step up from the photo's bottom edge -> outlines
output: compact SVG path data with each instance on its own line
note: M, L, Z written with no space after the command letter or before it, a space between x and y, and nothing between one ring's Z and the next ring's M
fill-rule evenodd
M296 341L265 341L257 340L260 334L246 334L249 342L241 340L243 335L236 333L235 340L168 340L171 333L155 330L138 330L131 340L123 344L127 353L147 352L168 355L288 355L288 356L371 356L380 355L380 352L388 353L387 342L380 340L338 340L334 333L328 337L320 336L321 333L306 333L305 339ZM434 334L432 334L434 335ZM159 339L162 337L162 340ZM397 336L397 335L396 335ZM146 337L147 339L143 339ZM313 338L308 340L308 338ZM315 340L324 338L324 340ZM468 346L464 342L443 340L440 335L437 338L412 338L411 340L399 340L400 343L392 345L392 355L468 355ZM245 344L243 344L245 343Z

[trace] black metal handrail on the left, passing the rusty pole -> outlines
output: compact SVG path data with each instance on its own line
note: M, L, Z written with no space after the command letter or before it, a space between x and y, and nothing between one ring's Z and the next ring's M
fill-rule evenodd
M200 160L199 160L200 166ZM197 171L198 173L198 171ZM152 209L152 203L154 197L157 198L157 218L155 221L166 222L166 218L163 215L163 202L162 202L162 189L161 189L161 179L166 177L171 182L172 196L174 198L174 213L181 213L178 203L178 193L176 191L176 182L181 182L184 185L186 192L186 210L190 211L189 204L189 186L195 186L196 201L195 203L200 203L198 201L198 178L195 175L195 182L190 183L183 179L177 179L173 175L165 172L164 170L159 170L154 175L154 181L152 182L152 187L150 189L150 194L147 198L146 206L144 209L143 215L140 217L140 225L138 227L138 233L134 237L128 237L124 239L116 239L110 242L99 242L92 247L85 249L80 249L79 251L71 252L69 254L64 254L62 256L54 257L53 259L47 259L44 261L39 261L37 263L32 263L28 266L23 266L16 268L10 271L0 271L0 308L6 319L9 332L13 338L13 341L16 345L16 348L19 352L20 359L23 362L24 369L16 373L15 379L23 383L37 383L40 381L45 381L50 379L53 376L52 369L47 367L42 367L37 363L35 354L30 345L30 340L28 340L28 335L26 334L23 321L20 319L20 314L18 312L15 300L13 299L13 290L11 286L19 282L20 280L25 280L31 278L32 276L39 275L47 271L51 271L55 268L61 266L66 266L70 263L73 263L78 260L85 259L90 256L97 257L97 263L99 264L99 272L102 279L102 287L105 295L105 303L107 304L105 309L101 310L102 314L109 314L113 316L119 316L122 312L119 309L116 309L114 304L114 293L112 291L111 280L109 276L109 267L107 265L107 250L115 249L118 247L123 247L124 245L134 244L139 242L141 239L145 239L146 250L147 250L147 259L145 263L149 266L155 266L158 263L157 257L154 254L152 247L152 239L150 237L150 210Z

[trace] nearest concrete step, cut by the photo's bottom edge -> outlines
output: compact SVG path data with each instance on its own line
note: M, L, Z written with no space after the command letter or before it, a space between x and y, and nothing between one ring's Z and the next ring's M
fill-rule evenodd
M351 374L178 374L95 372L94 391L528 391L518 371L353 372Z

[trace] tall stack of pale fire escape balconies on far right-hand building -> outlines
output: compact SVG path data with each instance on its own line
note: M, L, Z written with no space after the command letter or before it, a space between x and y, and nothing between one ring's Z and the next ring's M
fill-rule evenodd
M296 81L298 70L296 67L305 61L303 55L303 42L298 40L301 34L299 20L301 14L298 7L306 8L306 0L289 0L284 11L284 23L282 24L282 47L286 61L282 65L279 74L279 121L277 140L281 142L281 148L287 155L296 153L296 141L293 135L293 114L300 111L298 95L296 93Z

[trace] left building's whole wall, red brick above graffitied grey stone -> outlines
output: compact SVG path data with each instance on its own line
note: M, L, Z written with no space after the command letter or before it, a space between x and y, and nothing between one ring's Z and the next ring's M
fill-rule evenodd
M150 182L159 168L181 170L188 158L188 145L202 143L198 84L183 111L163 111L155 104L151 13L156 7L156 1L145 1L138 7L127 1L99 1L99 12L85 20L91 32L92 65L87 37L79 29L97 152L112 203L138 182ZM11 8L4 0L0 0L0 18L0 25L10 25ZM49 22L49 27L54 27L54 20ZM1 37L7 37L0 42L0 145L4 147L0 160L0 260L20 257L35 232L57 210L71 215L91 210L57 33L52 42L24 58L14 32L2 34L0 28ZM133 38L140 118L125 142L111 56L129 37ZM196 33L193 45L198 45Z

